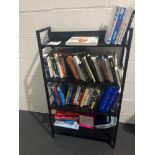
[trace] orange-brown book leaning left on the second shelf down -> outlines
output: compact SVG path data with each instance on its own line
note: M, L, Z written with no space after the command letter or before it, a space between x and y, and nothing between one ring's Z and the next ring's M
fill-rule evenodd
M72 56L68 56L68 57L66 58L66 60L67 60L68 65L70 66L70 68L71 68L71 70L72 70L72 72L73 72L75 78L76 78L77 80L81 80L81 79L80 79L80 76L79 76L79 74L78 74L78 71L77 71L77 69L76 69L76 67L75 67L75 65L74 65L73 57L72 57Z

